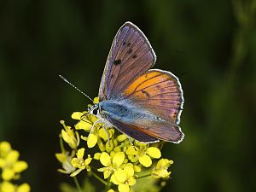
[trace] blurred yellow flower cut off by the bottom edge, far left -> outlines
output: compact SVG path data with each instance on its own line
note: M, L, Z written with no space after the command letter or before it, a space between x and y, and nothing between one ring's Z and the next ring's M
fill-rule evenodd
M20 186L9 182L3 182L0 184L1 192L29 192L30 190L30 186L27 183L20 184Z

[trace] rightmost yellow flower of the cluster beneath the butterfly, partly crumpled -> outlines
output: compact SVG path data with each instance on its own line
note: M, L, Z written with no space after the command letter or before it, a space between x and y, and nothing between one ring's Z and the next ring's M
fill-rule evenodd
M160 178L160 177L169 177L171 172L168 172L167 169L169 166L171 166L173 163L172 160L167 160L167 159L160 159L156 166L154 166L151 175L155 178Z

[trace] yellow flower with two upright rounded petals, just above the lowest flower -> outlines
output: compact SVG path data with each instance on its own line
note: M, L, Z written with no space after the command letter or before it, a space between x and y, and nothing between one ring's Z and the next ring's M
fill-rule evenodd
M117 171L119 166L123 164L125 160L125 154L123 152L117 152L113 154L113 157L108 153L103 152L100 156L100 161L103 166L98 169L98 172L103 172L104 179L108 178L113 172Z

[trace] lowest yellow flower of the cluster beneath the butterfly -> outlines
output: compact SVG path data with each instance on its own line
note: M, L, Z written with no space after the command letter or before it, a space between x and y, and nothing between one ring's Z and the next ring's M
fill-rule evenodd
M128 164L124 167L124 169L118 169L111 176L111 181L119 185L119 192L128 192L130 191L130 186L136 183L136 179L134 178L134 169L131 164Z

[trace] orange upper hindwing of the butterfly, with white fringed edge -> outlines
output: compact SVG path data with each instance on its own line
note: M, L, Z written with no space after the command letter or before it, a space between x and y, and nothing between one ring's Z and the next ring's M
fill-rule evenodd
M177 77L170 72L149 70L127 87L123 99L154 113L160 119L179 124L183 90Z

